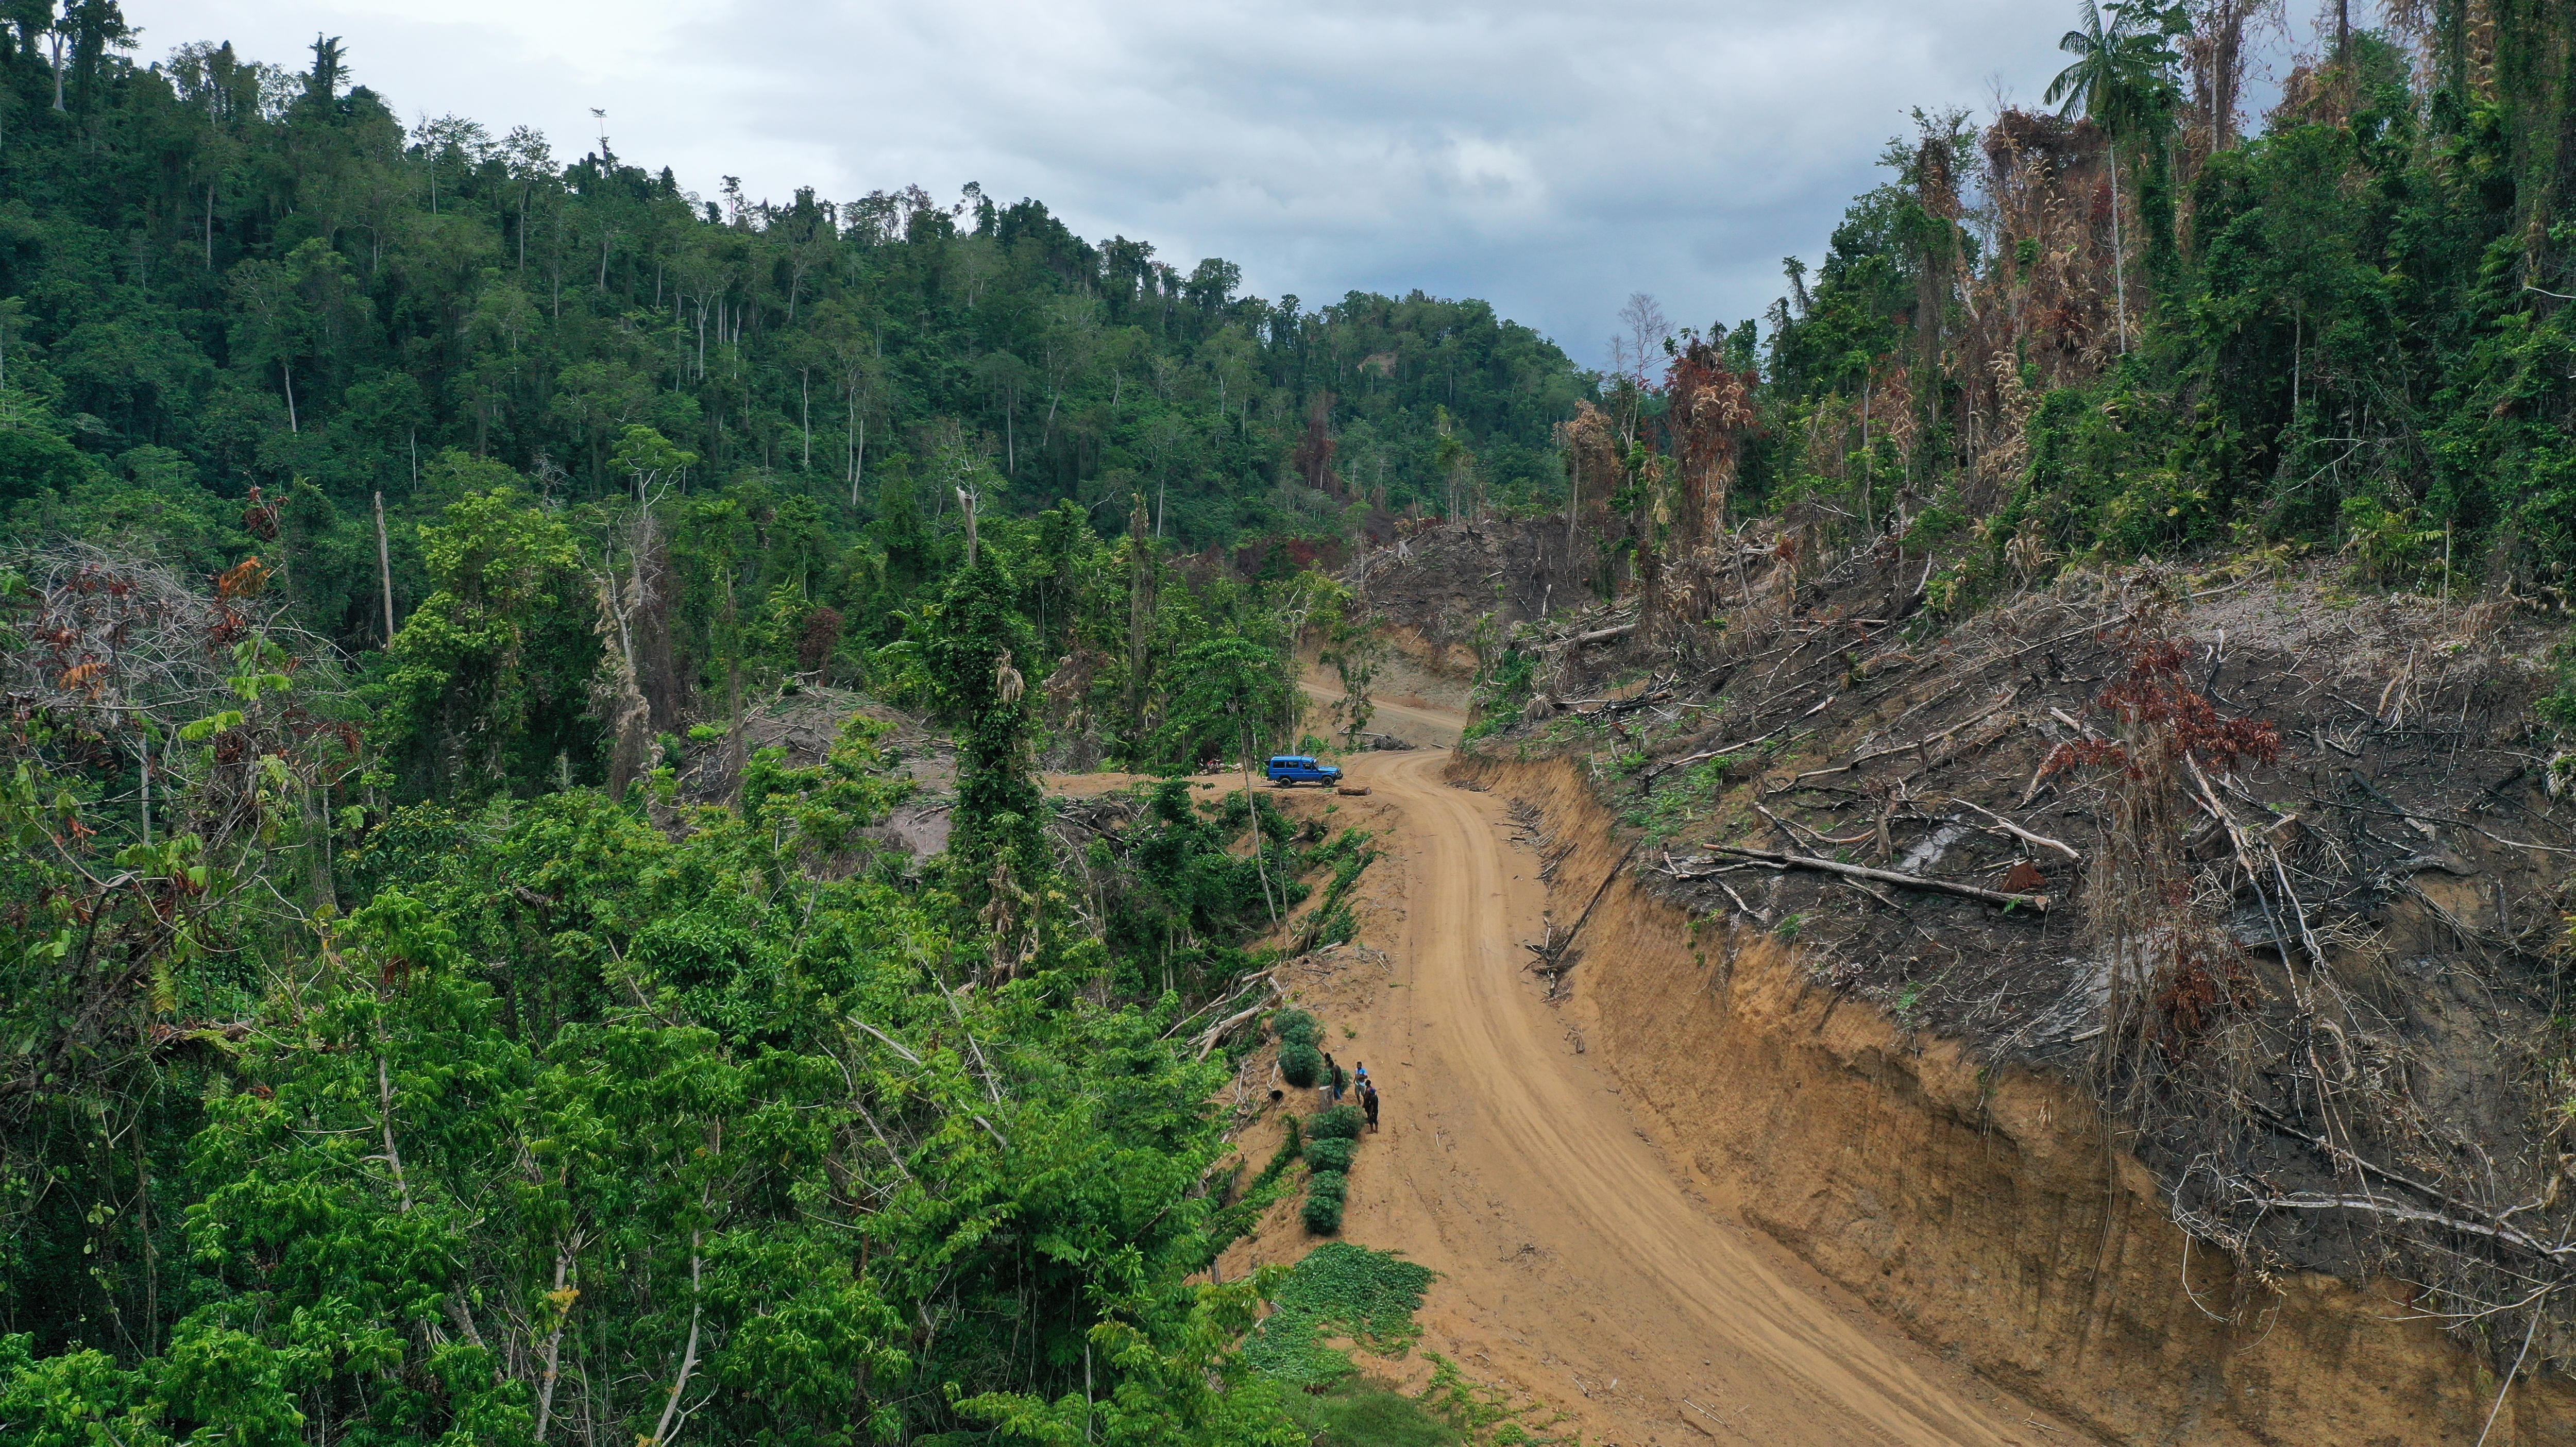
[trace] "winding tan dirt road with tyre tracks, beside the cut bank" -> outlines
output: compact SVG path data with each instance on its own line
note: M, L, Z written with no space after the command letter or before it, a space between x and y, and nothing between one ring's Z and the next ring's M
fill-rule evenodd
M1682 1190L1522 968L1546 893L1504 801L1443 783L1445 762L1352 760L1401 878L1370 929L1394 981L1345 1045L1386 1099L1345 1233L1443 1272L1425 1347L1589 1442L2081 1442Z

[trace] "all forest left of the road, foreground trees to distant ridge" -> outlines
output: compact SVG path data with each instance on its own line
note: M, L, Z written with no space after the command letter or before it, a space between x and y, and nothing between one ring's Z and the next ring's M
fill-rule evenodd
M1293 742L1589 378L1236 291L13 10L0 1442L1285 1442L1211 1053L1370 852L1033 770Z

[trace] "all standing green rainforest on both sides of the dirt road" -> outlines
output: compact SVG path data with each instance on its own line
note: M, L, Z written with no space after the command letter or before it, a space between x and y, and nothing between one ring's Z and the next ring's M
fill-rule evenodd
M1309 1439L1193 1040L1365 842L1041 767L1298 742L1425 528L1674 618L1780 515L1932 618L2218 546L2563 602L2576 26L2349 10L2246 116L2275 8L2084 5L2045 111L1595 373L13 0L0 1442Z

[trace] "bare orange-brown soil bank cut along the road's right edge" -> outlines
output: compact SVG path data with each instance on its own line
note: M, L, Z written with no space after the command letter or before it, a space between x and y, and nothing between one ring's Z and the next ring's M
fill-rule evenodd
M1574 765L1453 770L1569 847L1558 927L1620 873L1564 1009L1672 1164L1917 1339L2117 1442L2478 1442L2494 1372L2398 1293L2187 1251L2066 1087L1909 1040L1777 940L1654 899ZM2576 1442L2576 1393L2517 1383L2486 1442Z

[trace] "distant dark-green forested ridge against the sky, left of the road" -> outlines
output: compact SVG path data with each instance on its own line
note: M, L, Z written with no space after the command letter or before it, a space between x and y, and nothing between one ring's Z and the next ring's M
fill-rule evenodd
M139 528L201 572L258 548L350 649L443 587L417 523L500 481L659 505L657 566L703 595L739 559L744 610L786 582L837 610L855 669L963 551L958 487L1007 518L1069 502L1082 538L1144 499L1167 551L1283 574L1401 512L1548 492L1548 430L1587 394L1476 301L1270 304L1226 260L1092 245L974 185L701 201L526 129L407 131L327 39L294 75L124 49L85 3L8 57L8 502L21 533ZM662 726L719 651L724 608L683 613L701 633L641 680Z

